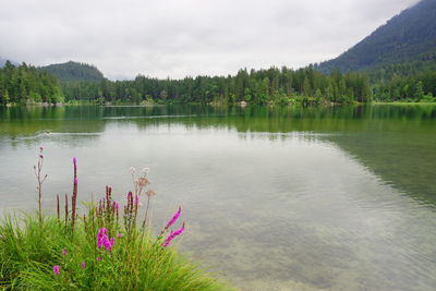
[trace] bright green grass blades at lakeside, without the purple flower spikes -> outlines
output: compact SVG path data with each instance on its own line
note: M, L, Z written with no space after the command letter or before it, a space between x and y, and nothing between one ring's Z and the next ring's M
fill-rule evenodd
M90 221L90 219L89 219ZM98 226L71 227L46 216L5 216L0 226L0 288L19 290L229 290L197 263L161 246L161 239L123 232L108 252L96 245ZM97 222L98 220L95 220ZM114 231L116 230L116 231ZM62 251L65 248L66 254ZM97 257L101 257L98 260ZM82 268L85 262L85 268ZM53 266L59 265L60 275Z

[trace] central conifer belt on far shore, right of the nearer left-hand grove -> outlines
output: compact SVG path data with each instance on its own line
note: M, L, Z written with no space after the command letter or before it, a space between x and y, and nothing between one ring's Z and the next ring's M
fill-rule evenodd
M69 82L62 84L65 100L96 102L144 101L234 104L320 104L367 102L371 88L365 74L329 76L313 65L292 70L286 66L268 70L240 70L231 76L197 76L183 80L158 80L138 75L133 81Z

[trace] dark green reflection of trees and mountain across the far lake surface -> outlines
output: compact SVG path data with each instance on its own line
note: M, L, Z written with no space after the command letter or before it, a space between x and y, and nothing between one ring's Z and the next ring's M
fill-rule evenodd
M99 137L107 124L233 130L241 138L324 138L356 157L383 180L436 203L436 107L11 107L0 108L0 138L19 137L83 145ZM326 134L319 136L318 134ZM315 136L315 137L314 137ZM35 143L28 138L24 143ZM0 146L3 143L0 143Z

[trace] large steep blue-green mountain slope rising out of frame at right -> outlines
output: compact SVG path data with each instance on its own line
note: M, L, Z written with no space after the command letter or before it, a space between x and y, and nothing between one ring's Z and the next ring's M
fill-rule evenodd
M422 0L338 58L322 62L315 69L330 73L378 69L391 63L413 61L436 63L436 0Z

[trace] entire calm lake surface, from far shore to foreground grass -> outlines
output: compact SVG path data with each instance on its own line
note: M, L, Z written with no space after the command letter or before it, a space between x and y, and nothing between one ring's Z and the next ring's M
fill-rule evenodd
M435 290L436 106L0 109L0 208L33 210L150 168L153 222L243 290Z

